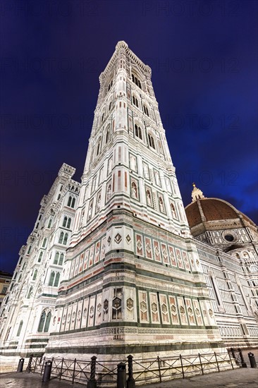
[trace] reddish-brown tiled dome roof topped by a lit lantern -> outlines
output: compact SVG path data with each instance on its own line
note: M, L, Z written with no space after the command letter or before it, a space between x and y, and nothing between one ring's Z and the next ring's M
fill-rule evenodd
M190 228L202 224L202 222L239 218L242 218L246 222L252 224L252 226L255 226L254 222L252 222L249 217L235 209L233 205L225 200L219 198L204 198L203 195L197 196L196 193L202 193L202 191L197 189L195 184L193 184L193 186L192 203L185 207L185 213Z

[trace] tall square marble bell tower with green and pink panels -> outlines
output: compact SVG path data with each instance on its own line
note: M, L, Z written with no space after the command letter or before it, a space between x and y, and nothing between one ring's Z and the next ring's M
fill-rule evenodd
M121 41L99 77L52 355L222 346L151 75Z

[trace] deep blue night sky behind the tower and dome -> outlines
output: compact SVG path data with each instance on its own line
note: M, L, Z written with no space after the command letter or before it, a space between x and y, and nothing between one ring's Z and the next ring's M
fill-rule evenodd
M184 205L192 182L258 222L257 1L1 0L1 270L63 162L80 181L99 74L125 40L152 83Z

